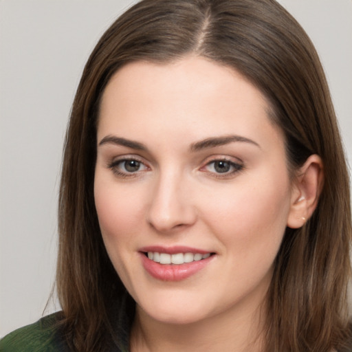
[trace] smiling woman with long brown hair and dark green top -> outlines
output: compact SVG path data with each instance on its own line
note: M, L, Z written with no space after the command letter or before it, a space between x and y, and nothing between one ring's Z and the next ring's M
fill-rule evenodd
M141 1L72 108L63 311L3 346L350 351L349 202L322 67L276 1Z

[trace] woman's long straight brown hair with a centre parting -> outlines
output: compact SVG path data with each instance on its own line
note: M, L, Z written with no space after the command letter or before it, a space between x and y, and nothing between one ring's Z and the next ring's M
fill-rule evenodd
M72 107L59 197L57 289L67 342L76 351L128 348L133 319L133 300L109 261L94 206L104 87L126 63L168 63L187 54L233 67L265 94L285 134L290 171L311 154L322 158L318 207L303 228L287 228L275 261L265 351L339 349L349 334L349 175L316 50L274 0L140 1L96 45Z

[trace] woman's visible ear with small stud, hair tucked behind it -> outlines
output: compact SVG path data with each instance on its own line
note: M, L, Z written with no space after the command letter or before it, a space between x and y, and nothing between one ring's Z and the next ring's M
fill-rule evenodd
M318 204L324 184L322 159L314 154L298 170L294 180L291 208L287 218L289 228L300 228L311 217Z

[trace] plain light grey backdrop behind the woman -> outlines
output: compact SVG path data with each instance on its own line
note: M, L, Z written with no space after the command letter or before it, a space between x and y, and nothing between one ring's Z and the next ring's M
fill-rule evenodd
M89 53L132 2L0 0L0 336L43 314L70 107ZM352 160L352 1L279 2L316 45ZM54 298L46 314L58 309Z

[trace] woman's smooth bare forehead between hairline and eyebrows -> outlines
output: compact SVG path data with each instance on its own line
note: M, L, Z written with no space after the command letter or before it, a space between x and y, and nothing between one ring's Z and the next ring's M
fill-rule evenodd
M187 131L192 142L209 134L255 135L274 129L269 110L261 91L239 72L205 58L135 62L116 72L104 91L98 138L166 133L172 140Z

